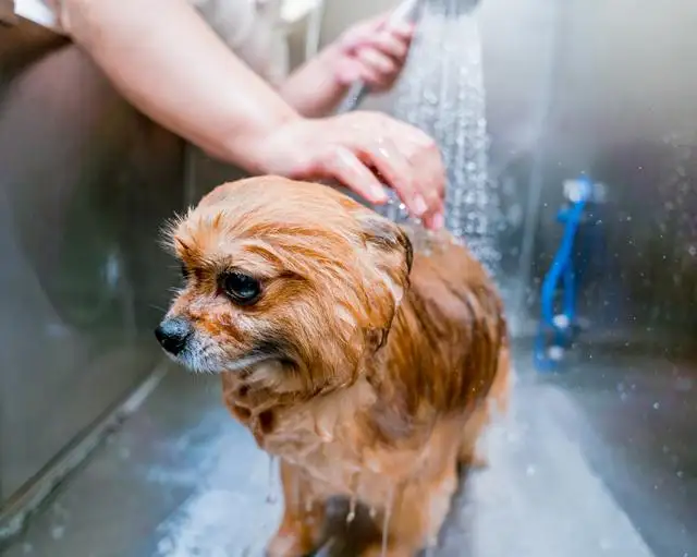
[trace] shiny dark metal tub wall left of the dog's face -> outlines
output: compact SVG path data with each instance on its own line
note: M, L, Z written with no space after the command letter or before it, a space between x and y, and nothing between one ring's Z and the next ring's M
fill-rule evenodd
M182 154L77 48L0 26L0 500L160 358Z

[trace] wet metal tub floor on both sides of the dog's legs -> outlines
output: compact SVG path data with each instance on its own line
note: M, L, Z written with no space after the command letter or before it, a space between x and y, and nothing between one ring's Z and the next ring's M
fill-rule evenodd
M695 555L695 367L592 353L560 378L519 353L512 413L486 439L490 467L464 484L437 555ZM173 370L7 557L260 555L278 495L217 380Z

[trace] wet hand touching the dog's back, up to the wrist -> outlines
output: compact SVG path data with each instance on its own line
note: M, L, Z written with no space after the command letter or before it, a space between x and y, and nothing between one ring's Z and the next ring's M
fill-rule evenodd
M305 180L337 180L374 204L394 189L425 226L443 226L445 171L433 140L378 112L293 119L258 146L257 170Z

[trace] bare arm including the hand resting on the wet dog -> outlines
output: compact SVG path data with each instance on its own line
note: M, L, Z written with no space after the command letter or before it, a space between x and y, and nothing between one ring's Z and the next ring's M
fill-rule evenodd
M210 154L253 173L338 180L372 203L386 201L382 181L442 222L432 140L382 114L302 118L185 0L62 0L60 15L134 106Z

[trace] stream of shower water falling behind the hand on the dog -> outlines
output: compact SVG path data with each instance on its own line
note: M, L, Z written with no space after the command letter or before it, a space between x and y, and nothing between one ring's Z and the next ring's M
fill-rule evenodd
M496 181L489 178L489 137L481 40L470 0L423 3L392 114L430 134L448 171L445 226L498 277L497 235L503 222ZM388 215L406 218L388 206Z

